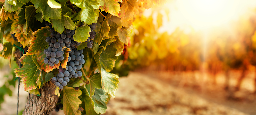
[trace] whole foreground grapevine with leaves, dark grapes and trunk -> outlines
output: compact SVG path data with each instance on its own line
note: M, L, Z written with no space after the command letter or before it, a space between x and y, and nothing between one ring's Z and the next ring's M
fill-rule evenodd
M53 105L40 106L40 110L26 106L23 113L48 114L53 108L63 108L65 114L104 114L119 83L119 77L110 71L128 45L134 17L161 3L0 0L0 55L11 60L11 56L18 57L12 54L13 45L28 48L18 57L23 67L15 69L24 90L41 95L41 90L47 91L45 87L55 89L41 95L54 97ZM63 101L55 102L59 97ZM43 101L40 96L36 98Z

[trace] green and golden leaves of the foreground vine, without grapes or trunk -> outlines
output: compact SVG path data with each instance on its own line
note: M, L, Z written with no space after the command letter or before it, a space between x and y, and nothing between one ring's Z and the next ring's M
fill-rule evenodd
M66 68L69 50L64 51L64 60L54 66L44 64L48 48L45 41L50 36L49 27L59 34L65 29L76 30L74 41L81 42L84 64L81 79L71 80L68 86L56 95L64 98L65 114L103 114L110 98L118 89L118 76L110 73L115 61L128 45L134 15L144 8L161 4L159 0L0 0L0 55L10 60L13 44L28 47L20 60L23 67L15 69L22 79L25 90L38 94L38 89L55 76L60 66ZM87 48L90 24L96 23L96 36L92 49ZM84 25L85 24L85 25ZM11 38L11 35L13 39ZM15 55L17 56L17 55ZM86 73L86 74L85 74ZM80 87L75 90L73 87ZM82 95L81 99L78 98ZM92 109L93 108L93 109Z

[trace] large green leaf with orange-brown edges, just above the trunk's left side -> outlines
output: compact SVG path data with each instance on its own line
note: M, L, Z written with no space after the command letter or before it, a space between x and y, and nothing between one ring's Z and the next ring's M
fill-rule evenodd
M24 54L20 61L23 67L15 69L16 76L22 78L25 91L36 89L36 81L41 73L41 69L36 65L38 63L36 57Z

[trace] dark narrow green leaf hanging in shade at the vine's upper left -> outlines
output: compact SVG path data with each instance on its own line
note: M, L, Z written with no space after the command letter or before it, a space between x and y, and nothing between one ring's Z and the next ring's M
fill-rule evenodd
M25 29L28 29L32 23L34 23L34 16L36 14L36 9L33 5L29 5L25 8L25 19L26 23L24 25Z

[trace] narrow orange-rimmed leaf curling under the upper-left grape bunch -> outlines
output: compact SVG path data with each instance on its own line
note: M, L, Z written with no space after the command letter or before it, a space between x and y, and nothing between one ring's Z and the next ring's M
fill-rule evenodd
M43 52L37 53L37 60L38 60L38 63L42 70L44 70L45 72L48 73L48 72L54 70L55 68L57 68L57 69L59 68L60 63L55 64L54 66L50 66L49 64L44 64L43 60L45 57L46 57L46 54L44 54Z

